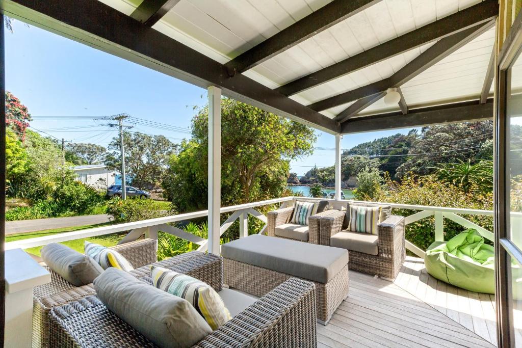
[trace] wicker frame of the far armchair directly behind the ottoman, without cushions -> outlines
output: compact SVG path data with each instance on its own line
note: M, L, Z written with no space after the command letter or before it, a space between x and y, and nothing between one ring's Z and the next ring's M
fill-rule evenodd
M299 225L302 233L299 233L300 238L290 238L281 236L276 233L276 228L281 225L290 223L290 219L293 214L294 207L282 208L268 212L268 224L267 224L267 236L279 237L286 239L293 239L294 241L308 242L313 244L319 244L319 218L327 216L329 214L338 212L337 209L329 209L323 212L312 215L308 219L308 226Z

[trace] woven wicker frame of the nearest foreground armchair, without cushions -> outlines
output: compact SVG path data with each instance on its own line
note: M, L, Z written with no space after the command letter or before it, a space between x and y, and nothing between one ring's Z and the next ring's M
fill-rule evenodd
M222 258L219 265L200 268L197 275L191 275L207 283L220 279L216 289L220 291ZM140 280L152 284L148 276ZM233 316L195 347L316 347L315 315L314 284L291 278ZM109 311L96 296L54 307L50 318L51 347L155 346Z

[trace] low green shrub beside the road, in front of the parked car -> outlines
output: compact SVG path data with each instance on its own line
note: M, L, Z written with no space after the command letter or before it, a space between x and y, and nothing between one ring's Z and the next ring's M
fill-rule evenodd
M152 199L112 198L107 203L107 213L116 222L132 222L161 218L171 215L163 206Z

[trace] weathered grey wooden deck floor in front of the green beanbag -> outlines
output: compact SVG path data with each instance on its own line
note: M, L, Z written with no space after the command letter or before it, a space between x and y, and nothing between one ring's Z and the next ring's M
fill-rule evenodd
M457 289L408 257L395 282L350 272L350 292L320 347L494 347L494 296Z

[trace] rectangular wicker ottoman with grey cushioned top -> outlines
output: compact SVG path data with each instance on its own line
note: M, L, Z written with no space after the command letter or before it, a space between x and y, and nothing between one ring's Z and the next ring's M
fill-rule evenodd
M221 246L224 283L255 296L298 277L315 284L317 320L324 325L348 296L348 251L251 235Z

